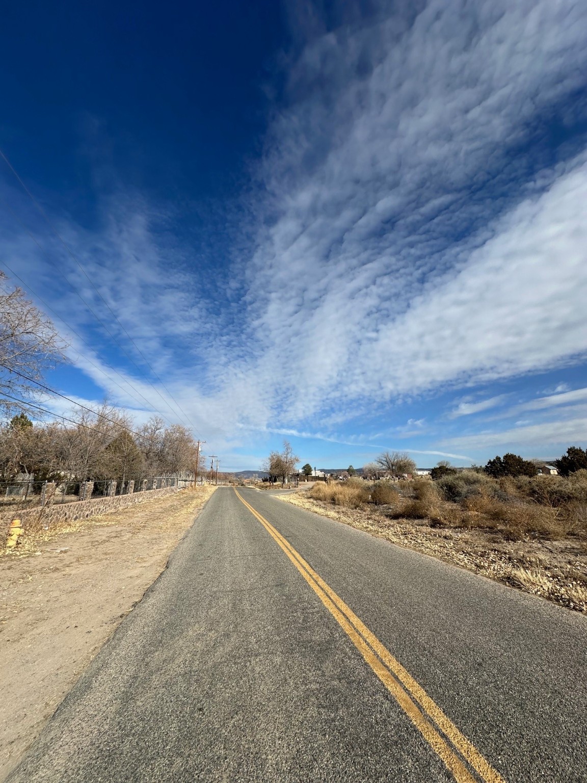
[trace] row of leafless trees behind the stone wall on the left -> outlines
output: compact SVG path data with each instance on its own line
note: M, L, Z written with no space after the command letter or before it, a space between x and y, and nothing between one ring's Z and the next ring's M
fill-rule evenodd
M0 271L0 480L130 481L195 471L198 449L180 424L153 416L137 426L115 406L79 406L63 420L34 421L52 392L45 374L66 361L56 327ZM18 412L18 413L16 413ZM16 415L13 415L15 414ZM200 455L198 471L203 472Z

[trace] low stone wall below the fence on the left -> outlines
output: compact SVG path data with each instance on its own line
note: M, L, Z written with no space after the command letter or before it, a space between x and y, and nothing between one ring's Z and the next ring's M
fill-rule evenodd
M56 503L55 505L48 503L43 507L31 508L27 511L13 511L9 516L0 519L0 540L3 543L8 536L10 522L13 518L20 519L26 532L27 529L50 527L56 522L88 519L97 514L110 514L112 511L135 506L136 503L148 503L149 500L157 500L159 497L175 492L178 492L177 487L163 487L162 489L147 489L146 492L132 493L131 495L96 497L93 500L78 500L74 503Z

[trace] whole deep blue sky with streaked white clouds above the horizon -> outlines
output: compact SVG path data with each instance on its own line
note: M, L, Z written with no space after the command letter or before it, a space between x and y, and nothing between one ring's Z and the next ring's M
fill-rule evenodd
M56 388L226 470L585 446L585 3L13 4L0 63Z

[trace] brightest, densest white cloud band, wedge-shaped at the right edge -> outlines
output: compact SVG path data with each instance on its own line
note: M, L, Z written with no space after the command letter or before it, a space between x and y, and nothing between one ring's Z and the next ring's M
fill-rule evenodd
M369 356L389 391L488 381L584 358L585 203L582 164L504 218L457 276L414 298L394 323L409 351L381 330Z

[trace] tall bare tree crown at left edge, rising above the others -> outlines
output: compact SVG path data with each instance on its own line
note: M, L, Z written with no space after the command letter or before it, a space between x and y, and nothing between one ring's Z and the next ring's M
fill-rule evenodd
M0 272L0 405L27 410L26 402L37 390L27 379L40 381L46 370L65 359L66 347L52 322L20 288L11 289Z

